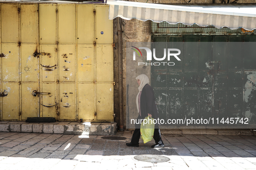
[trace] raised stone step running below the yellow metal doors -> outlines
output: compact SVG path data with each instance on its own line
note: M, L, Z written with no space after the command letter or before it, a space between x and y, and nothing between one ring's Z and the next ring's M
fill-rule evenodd
M58 133L66 135L115 135L117 123L55 122L26 123L0 122L0 132Z

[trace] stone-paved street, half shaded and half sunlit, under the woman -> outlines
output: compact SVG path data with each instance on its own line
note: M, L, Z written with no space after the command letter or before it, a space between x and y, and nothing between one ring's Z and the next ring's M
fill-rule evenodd
M165 148L154 143L127 147L132 132L117 132L125 140L96 135L0 132L0 170L255 170L256 136L162 135ZM137 161L139 154L170 161Z

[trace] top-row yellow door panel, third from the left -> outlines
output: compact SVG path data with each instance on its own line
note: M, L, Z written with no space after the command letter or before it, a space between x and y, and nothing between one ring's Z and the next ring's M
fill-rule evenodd
M39 4L39 40L40 43L56 43L57 15L56 4Z

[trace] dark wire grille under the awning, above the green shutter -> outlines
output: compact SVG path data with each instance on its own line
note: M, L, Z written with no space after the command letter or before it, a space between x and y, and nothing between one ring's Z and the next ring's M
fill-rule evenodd
M182 23L169 24L168 22L152 22L152 33L165 33L165 34L182 34L182 33L198 33L198 34L254 34L256 30L247 31L243 28L230 29L230 28L215 28L214 26L201 27L197 24L184 25Z

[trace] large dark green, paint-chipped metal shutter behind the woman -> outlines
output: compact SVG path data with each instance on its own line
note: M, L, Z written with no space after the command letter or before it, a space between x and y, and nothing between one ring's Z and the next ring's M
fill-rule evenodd
M161 39L158 35L156 38L153 37L153 41L162 42L165 38ZM158 110L160 114L168 115L162 115L161 118L247 117L250 122L256 123L256 72L253 64L256 62L256 44L253 42L256 41L256 36L182 35L170 36L167 39L172 42L171 47L176 41L176 48L184 50L183 57L186 58L182 58L185 61L177 69L152 67L152 86ZM185 43L184 47L178 47L178 43L183 40L209 43L200 43L200 46L197 43L186 46ZM250 44L245 42L241 45L243 40ZM240 44L237 46L235 42ZM195 54L194 58L190 57L191 54ZM181 84L177 84L179 78ZM165 100L166 90L169 92ZM181 107L175 109L176 101L171 96L182 98ZM159 98L162 103L159 102ZM181 113L175 114L178 111Z

